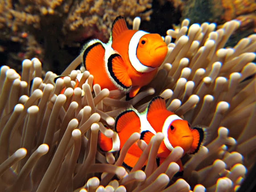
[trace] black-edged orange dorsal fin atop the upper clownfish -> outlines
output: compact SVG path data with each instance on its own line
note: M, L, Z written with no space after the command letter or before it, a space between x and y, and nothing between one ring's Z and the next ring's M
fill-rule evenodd
M112 41L125 30L128 30L128 27L125 22L125 18L123 16L118 16L117 18L115 18L112 24L112 29L111 29Z

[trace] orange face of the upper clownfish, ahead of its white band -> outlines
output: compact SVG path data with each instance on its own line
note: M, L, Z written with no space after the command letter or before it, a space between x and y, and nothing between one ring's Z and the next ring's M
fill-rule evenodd
M145 34L138 43L136 55L141 64L159 67L166 57L168 48L159 34Z

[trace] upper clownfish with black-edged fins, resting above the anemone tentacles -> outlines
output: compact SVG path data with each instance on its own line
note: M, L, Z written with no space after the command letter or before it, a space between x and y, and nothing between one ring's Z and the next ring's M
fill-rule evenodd
M84 45L81 54L86 70L94 77L93 84L102 89L120 89L129 93L129 99L154 78L167 52L159 34L129 30L125 19L118 16L108 43L93 39Z

